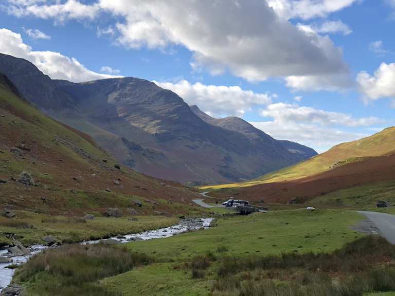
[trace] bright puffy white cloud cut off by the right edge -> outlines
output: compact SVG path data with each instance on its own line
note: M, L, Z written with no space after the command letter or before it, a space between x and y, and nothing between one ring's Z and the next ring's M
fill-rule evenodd
M361 71L356 77L358 87L365 100L395 98L395 63L382 63L373 76Z

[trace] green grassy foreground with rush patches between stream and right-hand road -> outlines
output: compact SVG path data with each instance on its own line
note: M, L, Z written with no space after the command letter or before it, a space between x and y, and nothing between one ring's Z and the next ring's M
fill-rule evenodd
M382 272L380 276L384 278L395 274L392 269L375 271L384 263L386 268L394 266L395 247L380 237L352 230L352 226L364 220L364 216L357 212L296 209L239 216L226 209L213 211L223 214L217 214L221 217L209 230L112 247L114 252L121 252L119 256L125 256L123 252L127 252L145 258L143 262L134 258L133 264L127 267L122 267L122 263L91 260L89 256L99 251L87 250L86 258L82 257L87 273L100 269L102 264L119 264L120 267L108 274L95 273L92 279L89 278L92 281L89 287L76 282L73 289L69 287L59 295L261 295L259 291L262 289L283 291L281 289L292 290L297 286L304 287L298 295L316 295L311 289L318 289L319 285L321 289L324 286L328 289L328 295L336 295L330 284L333 279L348 289L344 295L395 290L392 280L379 287L371 281L374 276L366 273L372 268L374 272ZM381 251L375 256L378 246ZM32 260L19 268L14 281L26 287L28 295L38 295L37 291L41 291L40 295L53 294L51 285L56 283L67 282L73 286L76 281L73 274L81 271L80 267L70 267L67 258L73 252L80 254L85 250L62 248L51 251L60 252L58 254L46 252L37 256L37 262ZM48 261L45 263L48 267L45 267L40 262L48 260L48 256L63 259ZM71 258L75 258L75 254ZM260 264L256 265L257 262ZM39 263L46 271L38 267ZM305 269L309 272L304 272ZM358 290L360 293L345 280L355 278L356 281L358 276L367 283ZM308 292L311 294L306 294ZM295 294L296 290L295 293L281 292L278 295Z

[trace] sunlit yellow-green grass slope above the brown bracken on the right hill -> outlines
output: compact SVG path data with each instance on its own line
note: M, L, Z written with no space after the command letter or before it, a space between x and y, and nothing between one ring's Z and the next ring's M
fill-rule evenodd
M309 160L263 175L251 181L206 186L201 189L216 190L221 188L249 187L262 183L296 180L329 171L334 164L337 164L336 167L338 167L347 163L363 161L368 157L386 155L394 150L395 127L389 127L370 137L336 145L329 151Z

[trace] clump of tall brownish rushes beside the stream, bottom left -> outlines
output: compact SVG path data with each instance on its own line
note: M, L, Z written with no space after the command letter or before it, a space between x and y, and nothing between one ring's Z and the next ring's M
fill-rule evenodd
M32 257L17 271L16 279L34 279L34 289L46 292L42 295L112 295L95 282L151 261L148 255L125 248L67 245Z

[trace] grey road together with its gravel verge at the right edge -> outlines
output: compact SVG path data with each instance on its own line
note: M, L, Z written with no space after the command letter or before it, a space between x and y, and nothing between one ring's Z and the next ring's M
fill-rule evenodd
M388 242L395 244L395 215L379 212L357 211L364 214L368 219L356 230L371 234L380 234Z

